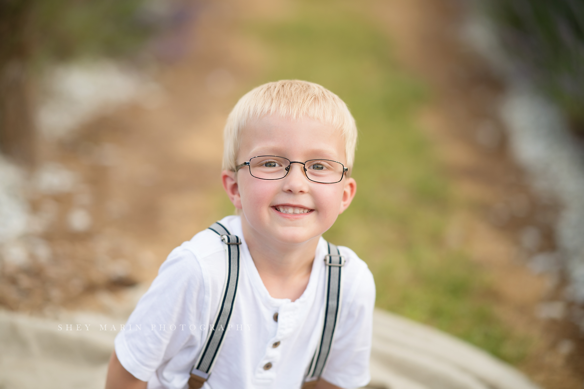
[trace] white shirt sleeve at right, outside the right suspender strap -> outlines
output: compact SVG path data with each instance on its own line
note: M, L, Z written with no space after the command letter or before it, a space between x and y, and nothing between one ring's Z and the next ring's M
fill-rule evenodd
M369 268L357 260L361 262L361 271L352 288L343 290L343 293L349 292L349 296L343 297L335 339L322 373L322 378L329 383L347 389L366 386L370 380L369 359L376 292Z

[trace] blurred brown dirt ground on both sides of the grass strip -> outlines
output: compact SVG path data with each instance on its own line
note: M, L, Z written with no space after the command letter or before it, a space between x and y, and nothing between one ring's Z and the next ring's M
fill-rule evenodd
M527 268L535 249L522 244L526 227L537 226L543 232L537 250L554 247L555 206L530 191L509 156L498 119L504 86L461 42L460 3L367 6L402 64L433 89L419 120L461 199L449 242L465 247L492 280L500 317L536 339L520 369L544 388L581 388L584 340L568 320L536 315L541 302L558 299L559 283ZM68 193L30 194L34 212L54 214L43 239L59 265L4 269L4 306L103 309L117 290L150 282L173 247L223 216L215 210L231 211L218 180L221 131L266 57L233 26L250 13L285 12L285 2L197 3L188 22L163 37L175 48L160 55L155 72L164 92L103 115L65 141L43 142L40 160L60 162L80 179ZM72 232L65 221L76 206L91 212L86 232Z

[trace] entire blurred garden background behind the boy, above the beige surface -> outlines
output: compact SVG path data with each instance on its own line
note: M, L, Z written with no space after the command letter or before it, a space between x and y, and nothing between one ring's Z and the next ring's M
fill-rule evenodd
M147 287L234 211L235 102L304 79L359 127L325 237L377 307L584 385L581 1L6 0L0 37L2 309L109 313Z

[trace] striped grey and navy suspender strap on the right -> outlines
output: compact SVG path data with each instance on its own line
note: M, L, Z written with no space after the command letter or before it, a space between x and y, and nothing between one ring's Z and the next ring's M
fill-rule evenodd
M328 254L325 255L325 317L322 328L321 341L317 345L307 375L304 377L303 388L313 387L325 368L326 360L331 351L333 335L339 321L339 311L342 294L342 267L345 257L340 255L339 249L328 243Z

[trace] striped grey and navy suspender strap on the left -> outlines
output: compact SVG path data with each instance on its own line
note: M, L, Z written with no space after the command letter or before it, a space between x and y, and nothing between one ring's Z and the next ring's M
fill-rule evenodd
M238 236L231 235L227 228L219 222L213 223L209 229L221 236L221 240L225 243L227 272L223 287L223 299L221 299L221 305L215 317L215 324L209 331L199 359L190 372L190 389L202 387L211 374L215 358L221 349L221 344L227 331L227 324L229 324L231 318L239 280L239 245L241 240Z

